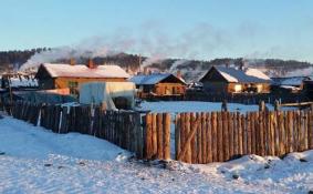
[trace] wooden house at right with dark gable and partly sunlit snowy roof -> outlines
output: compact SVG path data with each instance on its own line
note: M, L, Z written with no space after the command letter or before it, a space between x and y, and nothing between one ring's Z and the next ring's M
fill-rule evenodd
M257 69L212 67L200 82L209 93L269 93L271 79Z

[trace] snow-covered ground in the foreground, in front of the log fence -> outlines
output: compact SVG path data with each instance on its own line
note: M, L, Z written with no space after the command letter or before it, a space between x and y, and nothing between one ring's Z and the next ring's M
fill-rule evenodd
M307 193L313 151L208 165L127 160L93 136L0 119L0 193Z

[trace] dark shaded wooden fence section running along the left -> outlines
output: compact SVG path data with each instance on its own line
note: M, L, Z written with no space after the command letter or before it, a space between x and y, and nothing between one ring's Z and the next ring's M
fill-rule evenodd
M107 140L136 153L138 159L144 154L144 132L138 112L15 102L12 115L54 133L79 132Z

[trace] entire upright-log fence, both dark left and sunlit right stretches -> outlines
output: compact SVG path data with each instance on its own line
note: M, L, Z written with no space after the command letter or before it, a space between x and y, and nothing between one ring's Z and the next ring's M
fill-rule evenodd
M313 149L312 110L184 112L174 118L175 124L169 113L112 112L86 105L15 102L7 110L55 133L79 132L107 140L146 160L205 164L244 154L282 156Z

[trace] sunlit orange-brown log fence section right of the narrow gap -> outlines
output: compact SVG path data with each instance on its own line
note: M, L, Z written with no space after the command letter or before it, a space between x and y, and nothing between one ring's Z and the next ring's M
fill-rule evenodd
M223 162L243 154L282 156L313 149L312 111L180 113L176 160Z

